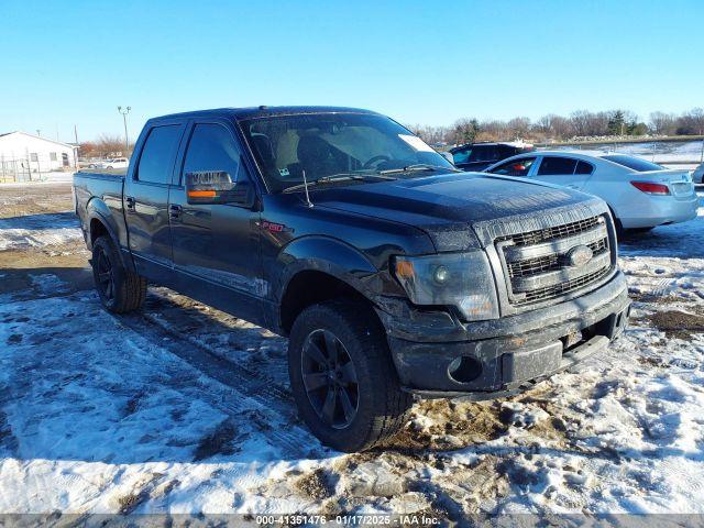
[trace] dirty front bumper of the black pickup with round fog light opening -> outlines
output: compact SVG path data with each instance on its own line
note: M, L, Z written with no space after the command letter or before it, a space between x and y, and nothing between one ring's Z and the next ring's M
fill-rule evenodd
M407 391L474 400L520 392L604 350L629 311L620 272L582 297L494 321L463 323L408 305L377 309Z

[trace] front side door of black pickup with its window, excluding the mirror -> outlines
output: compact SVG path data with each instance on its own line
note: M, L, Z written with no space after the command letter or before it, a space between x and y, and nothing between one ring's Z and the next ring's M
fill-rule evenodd
M188 204L186 175L227 173L253 185L240 142L227 122L196 121L187 132L169 218L178 289L252 322L261 321L262 266L255 207Z

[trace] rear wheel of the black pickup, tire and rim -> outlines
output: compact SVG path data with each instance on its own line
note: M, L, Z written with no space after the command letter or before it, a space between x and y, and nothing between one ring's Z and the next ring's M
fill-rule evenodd
M99 237L92 244L92 276L102 306L113 314L142 307L146 298L146 279L122 265L112 240Z

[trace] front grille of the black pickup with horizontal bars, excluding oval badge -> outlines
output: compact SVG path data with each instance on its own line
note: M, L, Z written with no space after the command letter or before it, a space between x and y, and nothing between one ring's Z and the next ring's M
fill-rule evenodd
M570 263L570 251L587 246L592 257ZM496 241L508 278L513 305L553 299L588 286L608 274L614 263L605 217L527 231Z

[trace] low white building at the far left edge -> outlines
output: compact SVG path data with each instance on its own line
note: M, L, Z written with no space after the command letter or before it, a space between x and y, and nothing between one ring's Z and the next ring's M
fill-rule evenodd
M28 134L0 134L0 172L48 173L76 167L78 147L68 143Z

